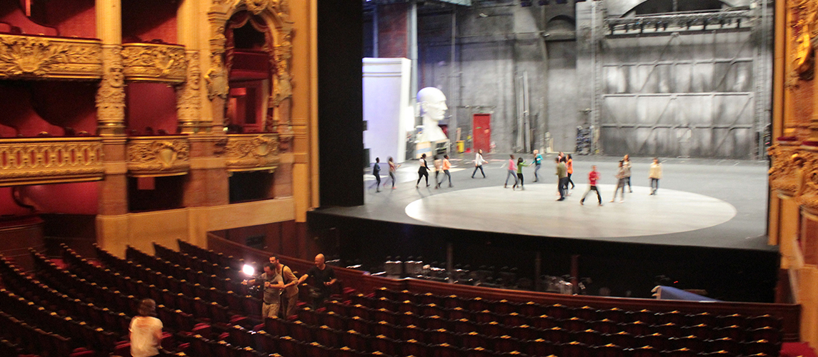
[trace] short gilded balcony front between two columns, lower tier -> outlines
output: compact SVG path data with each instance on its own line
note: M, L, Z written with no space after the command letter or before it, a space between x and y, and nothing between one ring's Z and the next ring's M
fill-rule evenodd
M187 136L128 137L129 176L178 176L191 169Z

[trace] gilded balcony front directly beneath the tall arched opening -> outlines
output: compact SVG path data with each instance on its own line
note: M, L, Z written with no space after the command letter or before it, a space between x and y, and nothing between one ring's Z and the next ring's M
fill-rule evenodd
M273 171L278 167L278 134L227 134L227 171Z

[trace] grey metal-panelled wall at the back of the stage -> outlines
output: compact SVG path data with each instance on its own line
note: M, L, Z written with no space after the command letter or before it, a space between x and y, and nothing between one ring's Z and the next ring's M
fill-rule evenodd
M570 152L577 127L593 124L601 154L762 153L758 139L770 120L772 11L754 10L764 17L743 29L607 33L605 18L621 18L640 2L426 5L418 16L419 87L446 94L444 123L452 140L455 127L461 138L470 134L472 114L492 114L500 152L549 144ZM766 4L728 2L743 9Z

